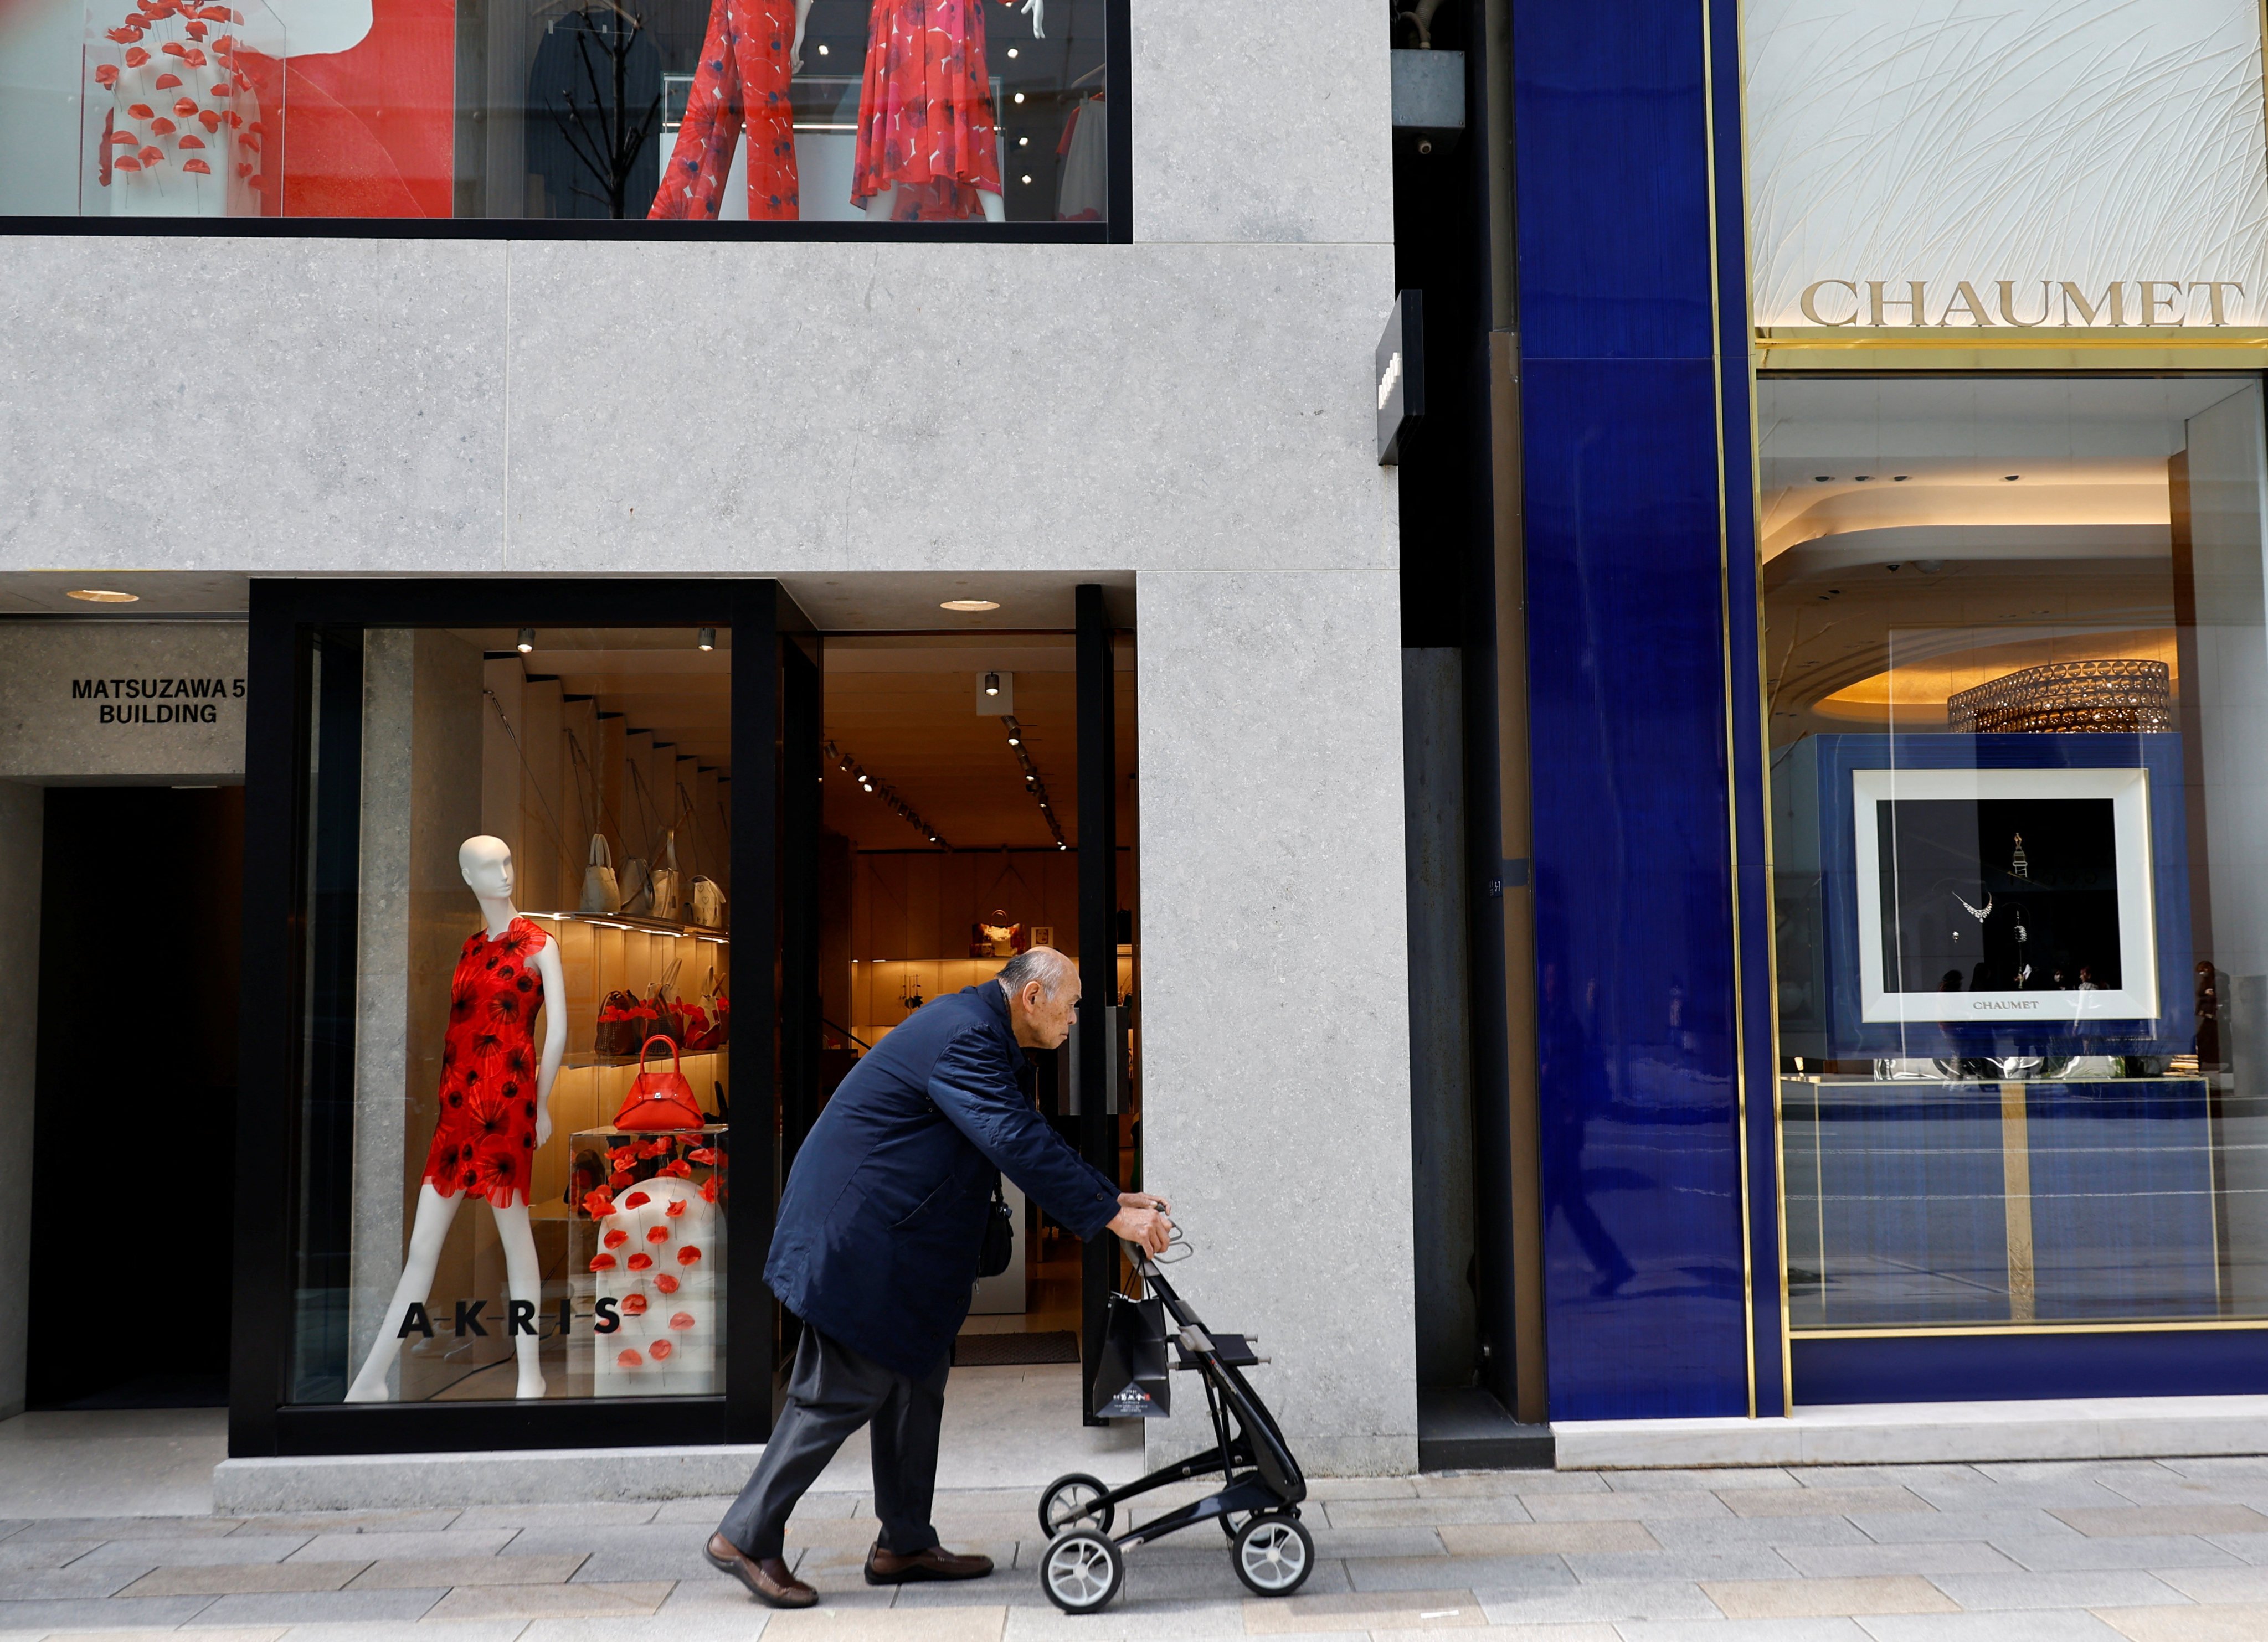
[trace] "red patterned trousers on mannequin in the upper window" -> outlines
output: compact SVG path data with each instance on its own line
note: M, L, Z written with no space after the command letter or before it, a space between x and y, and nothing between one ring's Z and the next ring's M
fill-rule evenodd
M746 129L748 218L796 220L796 116L787 100L794 41L794 0L714 0L678 145L669 150L649 218L712 222Z

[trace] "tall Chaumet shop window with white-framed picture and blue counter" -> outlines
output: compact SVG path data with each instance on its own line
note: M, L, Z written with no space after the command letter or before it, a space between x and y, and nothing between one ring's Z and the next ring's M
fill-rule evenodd
M2261 383L1758 413L1792 1327L2268 1315Z

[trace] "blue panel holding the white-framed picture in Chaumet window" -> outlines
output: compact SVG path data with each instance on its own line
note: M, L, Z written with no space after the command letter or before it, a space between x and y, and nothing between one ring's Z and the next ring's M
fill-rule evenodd
M1776 782L1789 1052L2193 1048L2180 735L1817 735Z

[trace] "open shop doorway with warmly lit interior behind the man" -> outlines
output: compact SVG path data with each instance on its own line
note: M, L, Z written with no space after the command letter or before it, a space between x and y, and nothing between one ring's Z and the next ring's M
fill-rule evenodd
M1093 678L1082 678L1082 660ZM1120 1186L1139 1186L1132 637L830 635L819 644L816 717L810 1118L925 1002L989 982L1021 950L1055 946L1080 964L1082 1018L1073 1043L1032 1057L1030 1093L1066 1141ZM794 1127L789 1152L807 1127ZM1012 1182L1005 1193L1016 1254L978 1286L953 1361L1061 1365L1039 1379L1059 1377L1068 1395L1084 1388L1084 1331L1118 1277L1116 1250L1082 1250Z

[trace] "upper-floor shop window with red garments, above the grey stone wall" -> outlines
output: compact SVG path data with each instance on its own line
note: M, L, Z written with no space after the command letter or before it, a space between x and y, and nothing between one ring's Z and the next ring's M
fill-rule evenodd
M1102 222L1107 0L25 0L0 215Z

